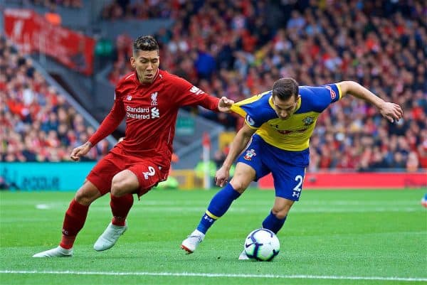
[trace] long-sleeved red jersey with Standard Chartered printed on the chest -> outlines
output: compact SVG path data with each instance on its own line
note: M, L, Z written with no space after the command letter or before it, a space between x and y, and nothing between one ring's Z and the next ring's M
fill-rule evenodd
M95 146L126 117L125 140L111 152L147 157L169 169L179 107L201 105L217 111L218 102L218 98L164 70L149 84L140 83L137 72L132 72L117 83L112 109L89 141Z

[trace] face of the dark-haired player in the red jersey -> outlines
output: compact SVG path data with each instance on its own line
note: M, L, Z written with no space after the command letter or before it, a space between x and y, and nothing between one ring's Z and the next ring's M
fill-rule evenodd
M141 83L151 83L159 70L159 53L157 50L138 50L130 64L137 70L138 80Z

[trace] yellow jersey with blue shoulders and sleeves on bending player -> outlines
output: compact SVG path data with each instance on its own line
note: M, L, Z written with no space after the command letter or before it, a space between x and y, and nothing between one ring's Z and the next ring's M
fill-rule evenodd
M233 112L245 117L249 127L256 129L266 143L286 151L307 149L317 117L330 104L342 97L336 84L300 86L300 99L295 113L289 119L280 119L273 108L272 91L263 92L236 102Z

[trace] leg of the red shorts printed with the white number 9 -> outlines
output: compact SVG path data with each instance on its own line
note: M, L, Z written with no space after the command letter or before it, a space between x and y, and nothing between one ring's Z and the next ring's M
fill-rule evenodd
M153 186L166 178L164 173L159 170L159 167L151 161L135 163L127 169L135 173L138 178L138 196L144 195Z

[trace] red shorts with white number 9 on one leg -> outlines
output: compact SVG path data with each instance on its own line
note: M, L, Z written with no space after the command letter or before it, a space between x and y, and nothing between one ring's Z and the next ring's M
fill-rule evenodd
M111 190L112 178L126 169L132 171L138 178L139 189L135 191L138 197L167 178L167 173L149 158L137 158L111 152L96 163L86 178L104 195Z

